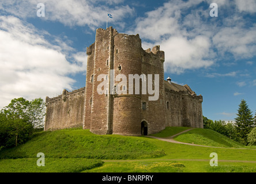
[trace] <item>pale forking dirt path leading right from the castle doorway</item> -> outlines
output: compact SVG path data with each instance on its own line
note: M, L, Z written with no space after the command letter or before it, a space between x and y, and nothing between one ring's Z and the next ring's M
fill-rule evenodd
M176 144L186 144L186 145L195 145L195 146L201 146L201 147L208 147L208 148L224 148L224 149L240 149L240 150L255 150L253 148L225 148L225 147L213 147L213 146L208 146L208 145L199 145L199 144L191 144L191 143L183 143L183 142L180 142L180 141L176 141L174 140L174 137L182 134L182 133L185 133L185 132L188 132L188 131L191 131L193 130L194 128L191 128L191 129L187 129L186 131L182 131L182 132L179 132L173 136L170 136L170 137L155 137L155 136L146 136L146 137L151 137L151 138L154 138L154 139L158 139L158 140L162 140L162 141L167 141L167 142L170 142L170 143L176 143Z

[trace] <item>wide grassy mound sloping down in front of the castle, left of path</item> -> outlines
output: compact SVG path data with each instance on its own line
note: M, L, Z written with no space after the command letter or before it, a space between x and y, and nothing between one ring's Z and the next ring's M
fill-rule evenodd
M0 158L138 159L157 158L164 151L143 137L95 135L89 130L72 129L40 132L17 148L2 150Z

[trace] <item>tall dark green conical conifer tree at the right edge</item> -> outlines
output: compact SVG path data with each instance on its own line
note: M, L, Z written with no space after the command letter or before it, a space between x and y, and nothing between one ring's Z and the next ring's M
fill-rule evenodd
M236 131L238 132L238 136L242 139L242 143L247 144L247 135L250 133L251 129L255 127L255 122L253 113L244 99L242 99L236 115Z

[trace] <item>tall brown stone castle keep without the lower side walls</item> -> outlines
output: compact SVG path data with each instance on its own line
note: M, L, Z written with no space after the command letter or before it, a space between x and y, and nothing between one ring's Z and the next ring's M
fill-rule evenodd
M159 46L154 47L152 52L149 50L142 49L138 34L121 34L112 27L96 30L95 43L86 51L88 61L84 129L90 129L97 134L139 136L159 132L165 128L164 52L160 51ZM129 86L129 75L141 77L141 74L145 74L146 77L148 74L160 75L157 81L160 83L157 91L160 99L148 101L148 93L141 93L142 79L140 93L136 93L135 90L136 79L133 79L133 87ZM126 81L123 81L123 78L119 79L120 76L125 76ZM100 80L97 80L98 77ZM108 82L108 89L99 94L99 86L101 85L100 89L104 89L104 80ZM123 93L116 93L117 90ZM104 94L105 92L107 93ZM153 116L156 110L159 113Z

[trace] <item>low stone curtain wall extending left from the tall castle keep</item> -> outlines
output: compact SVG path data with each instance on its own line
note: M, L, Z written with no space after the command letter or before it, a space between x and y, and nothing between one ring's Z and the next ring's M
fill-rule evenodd
M46 97L44 131L82 127L84 120L85 87L54 98Z

